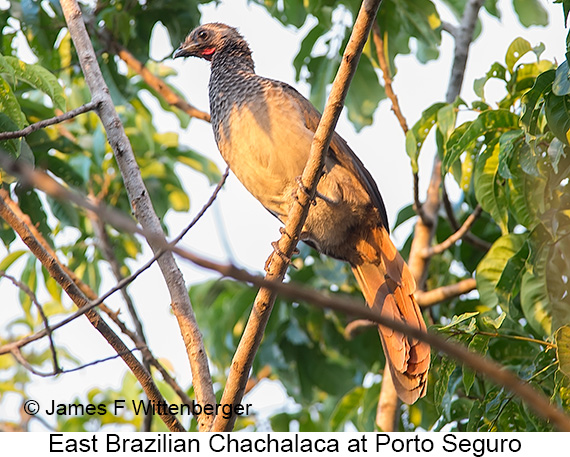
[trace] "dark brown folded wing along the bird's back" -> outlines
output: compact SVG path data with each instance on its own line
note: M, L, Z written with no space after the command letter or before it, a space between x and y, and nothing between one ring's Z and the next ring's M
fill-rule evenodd
M282 89L298 103L303 114L305 115L305 124L307 128L315 132L317 130L319 121L321 120L321 114L319 111L309 100L303 97L290 85L282 83L280 81L274 81L274 83L281 86ZM382 200L382 196L380 195L380 191L378 190L378 186L376 185L374 178L354 153L354 151L350 149L346 141L344 141L344 139L336 132L334 133L331 140L329 154L331 155L331 158L338 162L342 167L350 170L355 176L360 177L360 180L364 184L368 195L370 195L372 203L378 209L382 225L389 233L390 226L388 225L386 207L384 206L384 201Z

